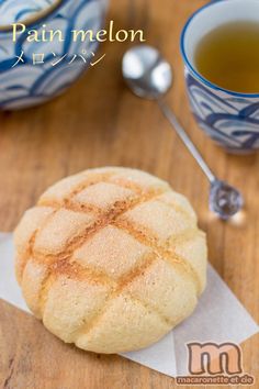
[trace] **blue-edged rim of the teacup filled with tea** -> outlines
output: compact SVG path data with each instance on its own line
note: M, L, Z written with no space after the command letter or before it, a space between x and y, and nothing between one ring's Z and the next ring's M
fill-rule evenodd
M189 67L189 69L191 70L191 73L193 74L193 76L195 76L201 82L205 84L207 87L214 89L214 90L219 90L222 92L228 93L230 96L234 97L239 97L239 98L259 98L259 92L258 93L244 93L244 92L236 92L234 90L229 90L229 89L225 89L219 87L216 84L213 84L211 81L209 81L205 77L202 76L201 73L199 73L194 66L191 64L191 62L188 58L187 52L185 52L185 45L184 45L184 38L185 38L185 33L188 31L189 25L191 24L192 20L199 14L201 13L203 10L205 10L209 7L213 7L218 2L223 2L223 1L233 1L233 0L212 0L210 1L207 4L200 7L196 11L194 11L189 19L187 20L182 32L181 32L181 37L180 37L180 48L181 48L181 54L184 60L184 64Z

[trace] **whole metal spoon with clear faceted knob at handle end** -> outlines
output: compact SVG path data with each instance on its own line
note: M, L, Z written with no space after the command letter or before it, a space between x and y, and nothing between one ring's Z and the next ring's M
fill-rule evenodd
M162 113L207 177L211 184L211 210L223 220L236 214L244 205L241 194L237 189L216 178L176 115L162 100L162 97L172 86L173 77L170 64L162 58L156 48L139 45L125 53L122 68L123 77L135 95L157 101Z

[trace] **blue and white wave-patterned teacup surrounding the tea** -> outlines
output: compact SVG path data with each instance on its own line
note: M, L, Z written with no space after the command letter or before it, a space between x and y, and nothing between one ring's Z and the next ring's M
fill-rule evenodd
M194 54L206 33L221 24L244 20L259 22L258 0L216 0L199 9L188 20L181 35L188 95L194 116L209 136L234 154L248 154L259 148L259 91L238 93L213 85L198 71Z

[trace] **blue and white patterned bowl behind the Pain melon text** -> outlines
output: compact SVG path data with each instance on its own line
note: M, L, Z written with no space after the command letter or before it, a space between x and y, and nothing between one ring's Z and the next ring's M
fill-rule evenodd
M108 0L0 0L0 109L36 105L65 91L89 67L98 46L91 40L75 42L69 32L91 30L94 36L106 5ZM26 25L16 42L12 23ZM41 34L44 25L58 29L64 41L27 42L27 31Z

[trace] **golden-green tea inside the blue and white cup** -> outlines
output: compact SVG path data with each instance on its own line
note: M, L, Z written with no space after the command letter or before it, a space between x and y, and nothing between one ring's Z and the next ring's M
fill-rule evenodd
M221 88L259 92L259 22L224 23L205 34L194 53L198 71Z

